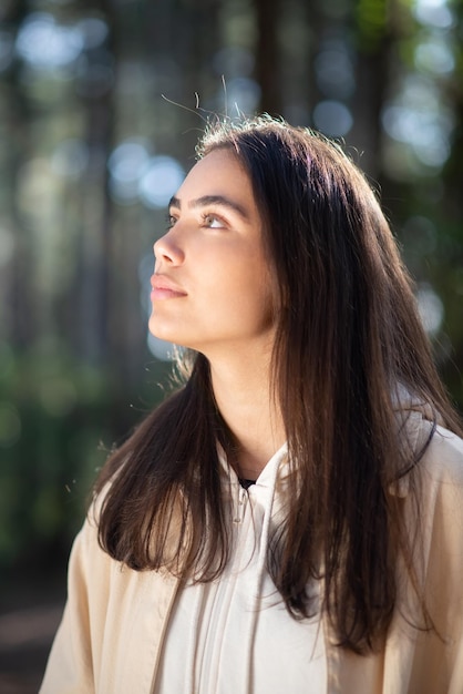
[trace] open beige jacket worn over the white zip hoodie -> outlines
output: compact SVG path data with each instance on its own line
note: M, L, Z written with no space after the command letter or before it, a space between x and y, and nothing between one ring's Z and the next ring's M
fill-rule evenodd
M429 422L412 417L416 438L425 437ZM463 694L463 441L439 427L420 467L423 576L442 637L398 611L384 649L361 657L335 646L325 624L327 694ZM407 480L394 493L407 503ZM177 586L168 574L112 560L89 518L71 553L68 604L40 694L152 694Z

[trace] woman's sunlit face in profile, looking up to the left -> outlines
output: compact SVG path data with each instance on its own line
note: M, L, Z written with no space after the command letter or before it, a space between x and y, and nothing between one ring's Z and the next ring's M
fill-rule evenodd
M154 255L153 335L208 357L271 346L276 279L249 177L230 152L192 169Z

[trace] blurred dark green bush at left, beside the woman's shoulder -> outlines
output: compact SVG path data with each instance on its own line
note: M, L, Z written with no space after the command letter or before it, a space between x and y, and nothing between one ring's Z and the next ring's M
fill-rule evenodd
M2 345L0 365L0 570L31 555L39 570L68 552L123 405L104 371L65 354Z

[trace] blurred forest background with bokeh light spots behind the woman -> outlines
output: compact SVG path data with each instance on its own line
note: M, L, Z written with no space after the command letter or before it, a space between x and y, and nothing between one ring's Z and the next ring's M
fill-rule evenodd
M92 480L162 397L168 346L146 328L152 246L208 112L267 111L347 143L381 190L463 409L462 47L462 0L1 0L10 665L22 643L6 636L13 609L25 633L22 609L43 590L53 601L55 585L62 600ZM2 692L29 691L8 682Z

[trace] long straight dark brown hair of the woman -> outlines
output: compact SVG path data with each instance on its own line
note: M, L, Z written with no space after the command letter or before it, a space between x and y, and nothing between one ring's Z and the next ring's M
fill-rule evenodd
M460 431L459 420L390 227L341 149L268 118L210 124L198 156L217 147L250 177L280 293L272 385L294 493L270 537L268 570L295 618L313 613L310 584L320 580L339 645L366 652L380 643L398 603L399 555L419 592L403 499L391 493L408 474L419 507L424 447L414 450L405 415L398 417L403 394L451 430ZM208 581L230 552L217 441L225 450L233 441L206 357L189 356L185 385L97 480L96 492L105 489L100 542L135 570Z

